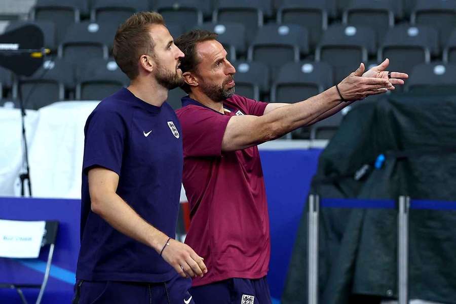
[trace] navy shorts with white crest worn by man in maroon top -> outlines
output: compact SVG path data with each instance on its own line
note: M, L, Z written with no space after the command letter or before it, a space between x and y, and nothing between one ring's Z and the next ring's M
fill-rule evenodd
M228 279L192 287L196 304L271 304L266 277L261 279Z

